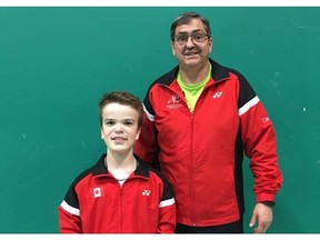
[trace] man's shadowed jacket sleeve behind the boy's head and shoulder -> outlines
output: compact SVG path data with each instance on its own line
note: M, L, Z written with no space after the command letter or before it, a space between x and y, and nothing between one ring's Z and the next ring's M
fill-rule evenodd
M157 129L154 126L154 112L148 93L143 101L143 122L141 133L136 141L134 152L152 166L158 160ZM153 166L154 167L154 166Z

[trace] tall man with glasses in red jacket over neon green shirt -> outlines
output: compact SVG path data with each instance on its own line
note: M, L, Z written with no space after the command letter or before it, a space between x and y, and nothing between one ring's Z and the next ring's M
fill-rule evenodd
M272 222L282 183L276 134L261 101L238 71L212 51L209 21L187 12L171 24L179 66L151 83L136 153L154 162L172 184L176 232L243 232L243 151L251 159L254 232Z

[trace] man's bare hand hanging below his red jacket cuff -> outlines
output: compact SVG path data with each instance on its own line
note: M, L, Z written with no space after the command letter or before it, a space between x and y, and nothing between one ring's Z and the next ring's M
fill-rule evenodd
M249 226L253 227L257 223L257 220L258 226L254 228L254 233L264 233L273 220L272 207L257 203Z

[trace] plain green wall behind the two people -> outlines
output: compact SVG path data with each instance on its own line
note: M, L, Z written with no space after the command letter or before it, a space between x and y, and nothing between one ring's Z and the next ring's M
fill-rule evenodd
M248 78L274 122L284 182L269 232L320 232L320 8L307 7L0 8L0 232L58 232L69 184L104 151L101 94L143 98L176 64L169 28L188 10L211 21L211 57Z

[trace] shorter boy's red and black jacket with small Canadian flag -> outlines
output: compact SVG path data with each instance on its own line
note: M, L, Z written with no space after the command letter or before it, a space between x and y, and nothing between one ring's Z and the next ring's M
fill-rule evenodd
M168 180L142 162L123 182L102 154L82 172L58 208L61 233L173 233L176 203Z

